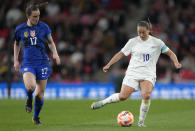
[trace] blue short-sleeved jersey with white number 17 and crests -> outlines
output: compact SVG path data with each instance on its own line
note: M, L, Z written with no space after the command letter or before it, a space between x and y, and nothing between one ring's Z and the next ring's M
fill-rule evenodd
M47 37L51 37L51 30L41 21L35 26L24 23L16 27L14 39L22 42L23 65L40 65L49 62L44 45Z

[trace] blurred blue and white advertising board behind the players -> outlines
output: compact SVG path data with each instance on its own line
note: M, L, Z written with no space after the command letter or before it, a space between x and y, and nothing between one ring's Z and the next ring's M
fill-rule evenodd
M115 91L112 83L48 83L46 99L101 99ZM0 83L0 99L8 98L6 83ZM156 84L152 99L195 99L195 84ZM23 83L13 83L11 98L26 98ZM131 99L140 99L140 90L131 95Z

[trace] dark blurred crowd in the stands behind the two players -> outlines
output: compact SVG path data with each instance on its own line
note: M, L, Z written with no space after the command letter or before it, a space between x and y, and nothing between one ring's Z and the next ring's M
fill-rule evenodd
M1 82L9 79L8 50L12 53L13 67L13 34L15 27L26 21L26 1L0 1ZM170 59L161 55L157 64L157 82L195 82L195 1L47 1L49 5L40 9L40 20L50 26L62 63L57 66L51 61L50 82L120 81L129 57L113 65L109 73L103 73L102 68L128 39L137 35L136 23L148 18L153 35L162 39L183 65L181 70L175 70ZM21 74L13 68L11 72L12 81L22 81Z

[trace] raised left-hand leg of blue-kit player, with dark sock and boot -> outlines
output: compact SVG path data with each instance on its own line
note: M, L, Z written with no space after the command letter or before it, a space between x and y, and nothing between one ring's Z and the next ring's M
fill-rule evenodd
M33 100L33 90L36 88L36 78L31 72L26 72L23 75L24 85L27 90L27 101L25 105L25 110L28 113L32 112L32 100Z

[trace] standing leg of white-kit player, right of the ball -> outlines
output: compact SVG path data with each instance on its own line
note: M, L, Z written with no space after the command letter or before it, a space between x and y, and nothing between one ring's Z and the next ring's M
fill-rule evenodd
M147 112L150 107L150 95L152 93L153 84L148 80L140 81L140 89L142 95L142 103L140 106L140 115L139 115L139 127L146 127L144 125L144 120L146 118Z

